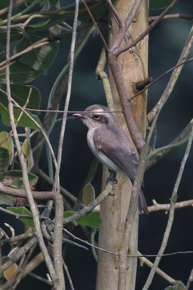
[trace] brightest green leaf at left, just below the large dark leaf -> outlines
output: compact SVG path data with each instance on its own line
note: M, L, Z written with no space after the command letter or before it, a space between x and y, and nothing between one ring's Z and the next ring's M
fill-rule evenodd
M21 110L17 109L17 108L14 108L13 112L14 112L15 120L17 120L19 115L20 115L20 113L21 113ZM33 115L29 111L28 111L28 114L42 127L41 121L40 121L40 119L39 119L39 117L37 115ZM8 114L2 114L2 121L3 121L3 123L5 125L11 126ZM21 116L21 119L19 120L17 125L21 126L21 127L29 127L29 128L32 128L32 129L39 130L38 126L36 126L36 124L34 124L34 122L32 120L30 120L27 115L25 115L25 113L23 113L23 115Z

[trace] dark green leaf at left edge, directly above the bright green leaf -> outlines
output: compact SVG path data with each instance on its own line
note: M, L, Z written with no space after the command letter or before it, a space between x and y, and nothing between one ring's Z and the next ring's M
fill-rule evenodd
M0 84L0 88L7 91L5 84ZM34 86L27 86L22 84L11 84L11 97L19 104L19 106L23 107L27 101L28 94L30 92L30 88L32 88L29 103L27 104L26 108L33 108L33 109L39 109L40 104L40 92L37 88ZM5 94L0 92L0 99L1 104L5 107L8 107L8 99ZM1 107L0 107L0 113L1 113ZM36 114L40 114L40 112L37 112Z

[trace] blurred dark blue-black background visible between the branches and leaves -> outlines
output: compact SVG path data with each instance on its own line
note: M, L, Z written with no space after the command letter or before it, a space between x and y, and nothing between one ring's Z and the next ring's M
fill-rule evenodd
M73 3L73 1L60 1L61 6ZM162 10L150 10L150 16L159 15ZM170 13L193 14L192 1L180 0ZM169 68L176 65L185 40L192 26L192 21L185 19L167 19L162 20L149 34L149 60L148 76L156 79ZM102 34L107 39L107 25L100 23L99 27ZM47 109L47 102L50 90L60 71L67 62L69 55L71 36L66 37L58 44L58 54L50 66L47 75L38 76L31 84L36 86L41 93L41 109ZM73 70L72 93L69 104L69 110L84 110L91 104L106 105L105 95L102 87L102 81L96 80L95 68L100 56L102 41L99 35L91 36L87 44L82 49L76 65ZM191 53L189 57L193 57ZM157 143L156 148L170 143L190 122L193 112L192 91L193 91L193 66L192 63L185 64L182 73L166 103L163 107L157 122ZM170 75L167 75L148 90L149 112L161 97L166 87ZM60 109L63 110L66 91L64 91ZM41 115L43 118L43 114ZM70 115L69 115L70 116ZM58 115L60 117L60 115ZM57 122L50 140L57 152L58 140L60 135L61 122ZM6 127L8 128L8 127ZM60 171L60 183L70 193L78 195L82 183L90 168L93 160L93 154L89 150L86 142L87 128L78 119L67 120L65 130L65 139L63 146L63 157ZM158 203L169 203L172 195L174 183L177 178L180 163L185 152L186 144L173 149L160 162L145 173L144 176L144 194L148 206L152 205L152 199ZM39 166L48 173L45 163L45 152L42 154ZM192 151L185 166L181 184L178 191L178 201L193 198L193 179L192 179L193 155ZM102 166L98 168L96 177L93 180L93 186L96 195L100 193ZM174 215L174 222L168 245L165 253L176 251L193 251L193 208L177 209ZM1 213L3 222L7 221L7 215ZM157 254L163 233L168 221L168 214L164 211L141 215L139 218L139 246L138 249L144 254ZM22 233L22 223L10 217L9 223L14 226L16 234ZM5 228L4 228L5 229ZM154 259L150 258L153 262ZM76 290L94 290L96 280L97 264L89 253L76 246L68 245L65 253L65 262ZM186 284L190 271L193 267L193 254L179 254L161 259L159 267L168 275L176 280L182 280ZM150 269L138 267L136 290L143 287ZM34 273L46 278L46 268L41 264ZM29 283L30 281L30 283ZM42 287L49 289L48 285L39 282L30 276L27 276L17 289ZM162 290L168 286L168 283L160 276L155 274L150 289ZM67 285L67 290L69 290ZM190 287L191 289L191 287ZM193 287L192 287L193 289ZM107 289L110 290L110 289Z

